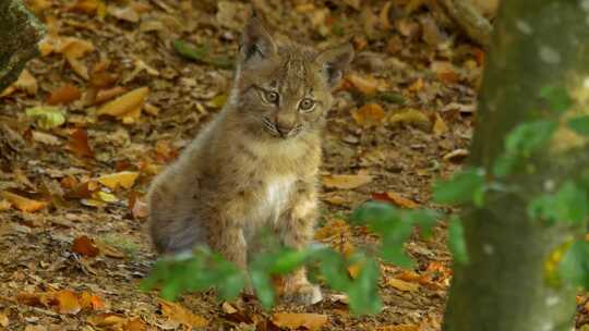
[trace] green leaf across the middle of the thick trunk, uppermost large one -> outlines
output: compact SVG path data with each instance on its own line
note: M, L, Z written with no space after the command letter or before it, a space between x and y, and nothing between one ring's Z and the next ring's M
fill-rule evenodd
M557 122L545 120L519 124L505 138L505 151L529 157L546 146L557 126Z

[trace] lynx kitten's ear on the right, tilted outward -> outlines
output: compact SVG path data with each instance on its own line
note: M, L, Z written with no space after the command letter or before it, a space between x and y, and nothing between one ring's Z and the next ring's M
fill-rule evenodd
M341 76L344 76L344 72L348 69L352 59L353 47L349 42L346 42L322 51L315 62L322 68L329 87L335 87L341 79Z

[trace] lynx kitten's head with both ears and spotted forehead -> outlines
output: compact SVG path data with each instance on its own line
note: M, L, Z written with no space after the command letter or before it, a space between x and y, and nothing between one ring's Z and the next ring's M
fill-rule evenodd
M316 132L352 52L349 45L317 53L296 44L275 44L253 17L243 34L236 78L243 123L255 134L280 139Z

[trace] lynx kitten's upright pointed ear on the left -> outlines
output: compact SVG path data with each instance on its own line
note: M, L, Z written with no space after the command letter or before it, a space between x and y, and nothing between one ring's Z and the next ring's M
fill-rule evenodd
M277 52L276 44L255 9L252 10L252 16L245 24L239 49L241 63L266 60Z

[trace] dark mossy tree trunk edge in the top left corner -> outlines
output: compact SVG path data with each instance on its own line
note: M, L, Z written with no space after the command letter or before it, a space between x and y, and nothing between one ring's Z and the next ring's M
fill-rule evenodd
M45 27L21 0L0 0L0 91L38 54L37 44L44 35Z

